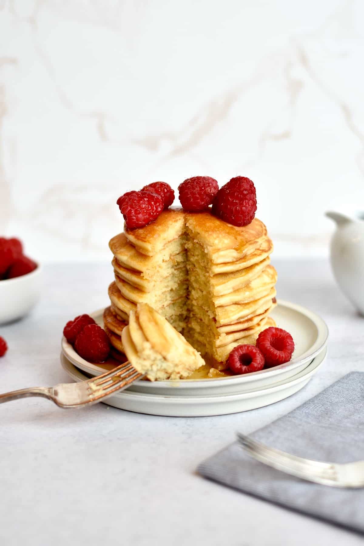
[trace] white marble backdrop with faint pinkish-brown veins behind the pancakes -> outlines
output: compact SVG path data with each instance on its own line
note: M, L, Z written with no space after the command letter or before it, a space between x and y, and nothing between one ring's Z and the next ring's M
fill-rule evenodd
M0 235L109 258L120 194L249 176L276 255L364 210L362 0L0 0Z

